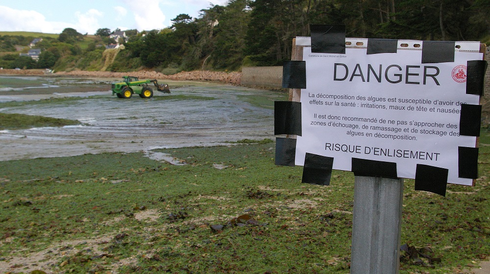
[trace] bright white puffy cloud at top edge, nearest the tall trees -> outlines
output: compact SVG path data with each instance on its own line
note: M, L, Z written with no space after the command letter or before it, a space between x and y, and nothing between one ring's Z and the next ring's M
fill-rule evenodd
M161 0L123 0L134 14L136 28L139 31L162 29L164 25L165 15L160 8Z

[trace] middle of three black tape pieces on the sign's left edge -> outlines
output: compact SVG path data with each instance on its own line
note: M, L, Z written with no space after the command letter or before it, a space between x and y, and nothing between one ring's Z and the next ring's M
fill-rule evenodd
M274 134L301 136L301 102L274 102Z

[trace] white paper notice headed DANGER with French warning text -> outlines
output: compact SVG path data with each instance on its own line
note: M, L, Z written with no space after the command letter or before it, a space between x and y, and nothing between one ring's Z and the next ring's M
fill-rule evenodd
M395 162L399 177L415 178L424 164L448 169L449 183L472 184L458 177L458 147L474 148L476 137L459 136L459 123L462 103L479 104L478 95L466 94L466 61L482 60L482 53L422 64L421 50L303 52L296 165L309 152L333 157L336 170L351 171L354 157Z

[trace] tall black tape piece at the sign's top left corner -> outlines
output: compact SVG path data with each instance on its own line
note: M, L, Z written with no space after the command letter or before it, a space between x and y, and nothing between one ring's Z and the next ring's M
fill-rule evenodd
M345 25L310 25L311 52L345 54Z

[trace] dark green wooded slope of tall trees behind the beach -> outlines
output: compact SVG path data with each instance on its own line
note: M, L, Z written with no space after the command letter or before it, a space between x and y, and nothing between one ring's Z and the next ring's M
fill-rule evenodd
M489 14L490 0L230 0L197 18L180 14L165 29L127 31L125 50L106 69L170 74L281 65L291 58L293 38L309 36L312 24L345 25L346 37L489 43ZM76 33L62 34L47 48L49 62L40 59L43 66L83 69L101 57L96 42L81 48ZM97 34L98 43L108 42L109 29Z

